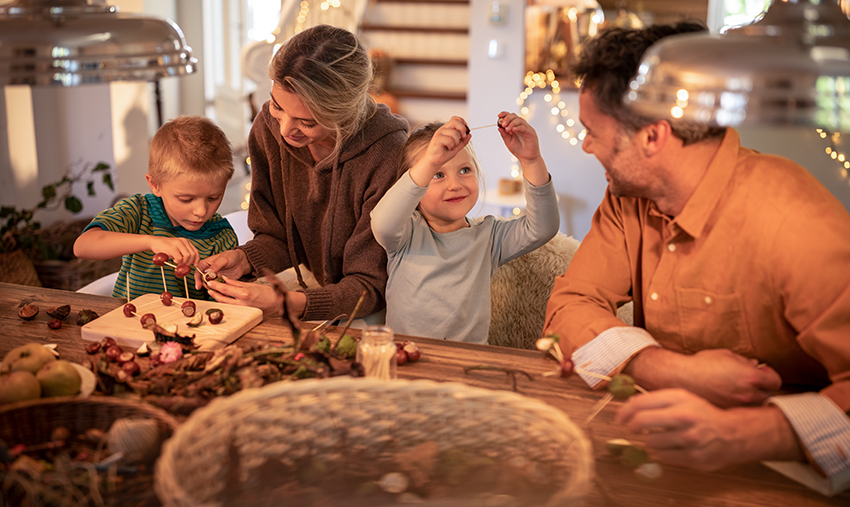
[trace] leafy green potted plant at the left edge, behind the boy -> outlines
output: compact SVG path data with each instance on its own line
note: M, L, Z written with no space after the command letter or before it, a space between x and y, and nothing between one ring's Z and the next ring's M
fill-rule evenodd
M41 286L34 263L65 261L73 254L57 243L50 230L42 229L35 219L40 210L55 211L61 207L77 214L83 203L73 193L75 183L85 182L89 196L95 195L95 179L100 176L104 185L114 191L109 164L98 162L84 165L75 171L70 168L61 180L41 189L41 201L32 208L0 207L0 282ZM72 242L73 244L73 242Z

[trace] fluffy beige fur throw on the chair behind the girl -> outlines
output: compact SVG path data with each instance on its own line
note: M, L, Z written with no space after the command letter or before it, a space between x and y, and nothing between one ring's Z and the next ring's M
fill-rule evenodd
M488 343L502 347L534 349L543 335L546 303L555 278L567 270L580 241L556 234L542 247L499 268L490 283L490 333ZM632 303L617 316L631 325Z

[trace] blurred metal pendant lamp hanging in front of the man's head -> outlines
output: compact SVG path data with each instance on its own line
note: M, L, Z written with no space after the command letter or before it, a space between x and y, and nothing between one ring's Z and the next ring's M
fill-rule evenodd
M774 0L725 34L664 38L624 100L652 118L850 131L850 20L837 0Z

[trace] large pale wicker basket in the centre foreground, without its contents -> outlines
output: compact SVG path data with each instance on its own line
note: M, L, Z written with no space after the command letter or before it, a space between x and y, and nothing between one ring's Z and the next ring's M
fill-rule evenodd
M500 463L519 459L550 472L552 494L521 505L577 505L593 476L590 442L564 413L541 401L459 383L337 377L278 382L197 410L163 446L154 487L166 506L225 505L233 503L233 491L274 488L258 479L268 476L269 463L320 458L351 466L431 442L440 451ZM292 502L275 498L253 505ZM247 498L238 503L252 505ZM442 498L430 504L475 502Z

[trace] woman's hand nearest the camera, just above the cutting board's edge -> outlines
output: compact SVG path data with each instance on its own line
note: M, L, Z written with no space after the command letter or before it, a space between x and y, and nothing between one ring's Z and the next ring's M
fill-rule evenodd
M240 282L226 278L224 283L209 282L210 295L219 303L253 306L263 311L265 317L279 317L283 309L283 296L270 285ZM287 291L286 303L291 315L300 317L307 306L303 292Z

